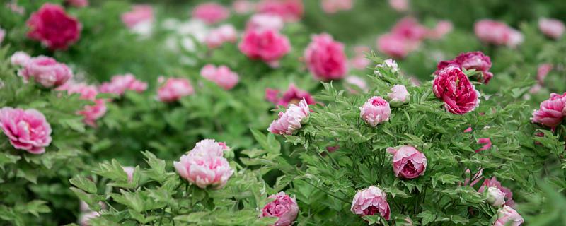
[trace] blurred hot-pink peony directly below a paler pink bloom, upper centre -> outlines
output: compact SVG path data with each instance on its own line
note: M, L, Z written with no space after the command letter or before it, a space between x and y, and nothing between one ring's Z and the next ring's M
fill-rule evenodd
M238 48L250 59L261 59L268 64L275 64L289 53L291 44L287 37L275 30L247 30Z

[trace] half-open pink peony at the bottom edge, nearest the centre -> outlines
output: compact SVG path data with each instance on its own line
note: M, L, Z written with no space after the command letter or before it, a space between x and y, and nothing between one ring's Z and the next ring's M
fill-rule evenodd
M291 198L284 191L271 195L267 198L275 199L267 203L262 210L260 217L276 217L278 218L272 226L291 226L299 213L295 198Z

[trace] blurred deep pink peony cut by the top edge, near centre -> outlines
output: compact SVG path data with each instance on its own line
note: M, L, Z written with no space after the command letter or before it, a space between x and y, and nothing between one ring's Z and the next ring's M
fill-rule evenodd
M295 22L303 16L303 1L262 0L258 3L258 11L280 16L285 22Z

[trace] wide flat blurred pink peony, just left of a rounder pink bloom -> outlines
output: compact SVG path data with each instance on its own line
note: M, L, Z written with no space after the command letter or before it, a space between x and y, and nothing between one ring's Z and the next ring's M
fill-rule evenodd
M147 83L137 80L131 73L126 73L112 76L110 83L102 83L99 89L100 93L115 93L117 95L123 95L126 90L141 93L147 89Z

